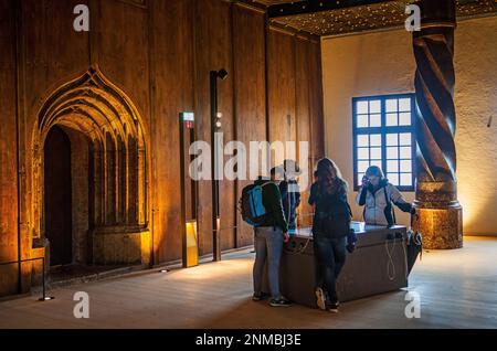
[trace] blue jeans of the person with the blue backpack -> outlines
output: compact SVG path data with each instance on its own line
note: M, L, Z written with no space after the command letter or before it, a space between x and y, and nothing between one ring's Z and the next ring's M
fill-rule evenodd
M254 292L262 292L264 267L267 263L267 278L273 299L282 297L279 292L279 259L283 252L283 232L274 227L255 228Z

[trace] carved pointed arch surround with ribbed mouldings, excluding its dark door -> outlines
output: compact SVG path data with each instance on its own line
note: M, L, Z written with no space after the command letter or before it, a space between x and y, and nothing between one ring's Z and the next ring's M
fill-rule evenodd
M88 263L149 262L147 151L140 120L126 94L96 68L45 100L32 136L36 236L45 237L43 149L49 131L57 126L88 142Z

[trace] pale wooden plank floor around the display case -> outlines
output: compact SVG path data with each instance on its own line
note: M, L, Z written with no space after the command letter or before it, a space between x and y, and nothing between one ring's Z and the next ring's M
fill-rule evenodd
M406 291L343 305L339 315L253 302L248 252L222 263L71 286L0 302L0 328L497 328L497 237L466 237L465 248L424 253L410 281L421 318L408 319ZM73 317L86 291L91 318Z

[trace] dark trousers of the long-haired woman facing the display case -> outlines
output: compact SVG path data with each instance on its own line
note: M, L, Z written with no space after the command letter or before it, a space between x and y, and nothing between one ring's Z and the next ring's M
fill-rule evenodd
M322 288L328 304L338 302L337 279L346 262L347 237L314 235L316 286Z

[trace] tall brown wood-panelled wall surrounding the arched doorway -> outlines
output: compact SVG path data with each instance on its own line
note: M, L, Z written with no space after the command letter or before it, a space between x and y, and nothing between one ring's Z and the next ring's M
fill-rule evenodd
M88 33L73 30L80 3L91 10ZM17 259L18 237L23 257L31 257L40 234L30 222L31 193L40 189L29 181L36 171L30 155L38 113L50 94L92 66L142 119L155 264L181 257L179 114L194 111L197 138L210 141L210 71L229 72L219 82L224 142L311 141L309 164L303 164L309 169L324 155L319 40L267 28L260 9L224 0L0 0L0 260ZM236 212L246 183L221 182L222 249L253 242ZM210 182L199 191L205 255L212 252ZM10 285L0 281L0 295Z

